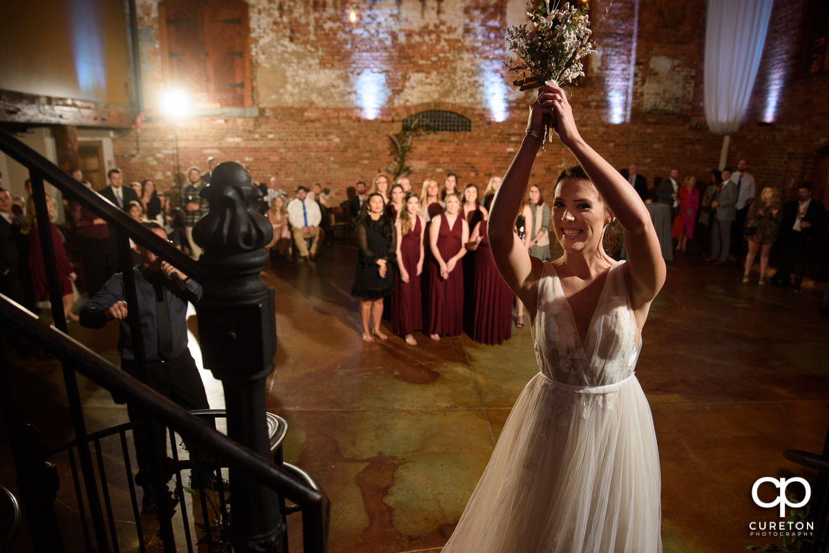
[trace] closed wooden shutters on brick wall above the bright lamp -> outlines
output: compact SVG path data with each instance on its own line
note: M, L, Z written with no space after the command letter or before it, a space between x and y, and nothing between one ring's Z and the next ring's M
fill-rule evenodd
M162 71L201 107L248 108L250 26L242 0L162 0Z

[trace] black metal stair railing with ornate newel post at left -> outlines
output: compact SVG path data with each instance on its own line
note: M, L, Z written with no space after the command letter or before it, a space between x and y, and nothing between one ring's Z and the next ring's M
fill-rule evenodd
M264 378L274 368L276 329L273 289L259 281L259 272L268 257L263 247L270 241L271 227L267 219L252 209L251 204L260 193L250 184L250 177L244 168L232 162L221 164L214 171L211 185L202 190L201 195L210 201L211 209L194 228L193 237L204 249L199 262L195 262L150 229L129 218L121 209L95 191L81 185L41 154L2 130L0 151L29 170L32 180L31 201L35 206L38 228L48 229L51 226L44 188L46 180L61 190L65 198L79 202L115 230L119 269L124 274L128 305L138 305L130 239L155 252L173 267L201 283L204 290L201 301L196 304L202 357L205 368L221 379L225 388L230 440L224 438L224 441L216 438L215 430L214 434L206 434L206 426L192 417L187 418L178 411L174 416L170 411L171 406L167 405L169 402L158 402L158 397L151 399L144 393L152 392L150 388L136 388L138 382L134 378L121 373L109 363L102 364L103 360L95 358L89 350L75 347L80 344L72 345L65 342L69 337L51 232L41 231L38 235L46 269L52 319L57 331L60 332L34 325L30 320L32 315L27 311L21 310L18 305L4 297L0 300L2 318L7 324L11 325L12 329L22 331L29 339L40 344L61 361L97 551L111 550L75 371L85 374L110 392L129 390L124 392L124 396L133 398L133 401L142 406L144 418L166 423L174 421L175 424L169 426L188 437L192 436L193 440L206 440L207 450L221 459L228 459L231 492L235 497L234 512L239 515L235 520L240 521L231 528L235 551L270 551L282 541L284 524L279 520L279 495L284 495L299 504L308 504L308 511L303 508L305 549L325 551L328 507L327 498L322 490L318 489L318 486L316 489L314 486L309 487L308 479L304 478L301 471L293 473L291 478L264 461L269 453L264 425ZM128 309L128 325L138 381L147 382L142 327L138 317L138 309ZM59 345L61 347L58 347ZM5 361L2 365L6 368ZM0 388L0 399L12 438L18 481L23 483L22 488L26 490L25 493L22 490L22 503L24 508L27 502L30 505L44 504L43 502L48 501L50 497L54 498L56 488L52 489L54 485L49 482L56 478L56 473L49 469L48 464L44 469L36 456L32 457L32 448L27 450L27 440L31 441L32 436L26 435L25 431L21 430L23 426L15 419L11 408L11 392L2 383ZM142 392L136 392L137 389ZM236 447L245 445L250 450L236 449L233 454L228 454L233 440L238 442ZM143 447L153 450L154 445L144 443ZM158 504L159 536L165 551L176 551L171 522L175 503L163 480L163 455L153 454L152 457L157 459L149 472L151 487ZM309 490L313 490L313 493ZM48 513L43 517L32 516L29 519L33 542L38 551L64 551L59 536L57 540L51 537L50 530L56 529L56 521L53 519L53 514ZM311 528L317 531L315 534L312 532L313 535L308 533ZM117 546L114 548L117 551Z

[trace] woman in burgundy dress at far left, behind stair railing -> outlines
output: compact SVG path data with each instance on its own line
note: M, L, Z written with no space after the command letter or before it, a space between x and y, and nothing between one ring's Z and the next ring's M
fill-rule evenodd
M33 200L33 199L32 199ZM29 271L32 274L32 288L35 291L35 302L48 301L49 282L46 280L46 265L43 262L43 250L41 250L41 237L37 228L37 216L35 214L35 202L28 201L26 204L26 218L20 228L20 233L28 235L29 238ZM61 300L63 301L63 312L68 320L78 320L78 315L72 313L72 306L75 305L75 291L72 289L72 281L77 278L75 268L66 255L63 247L63 238L56 225L55 202L50 195L46 195L46 208L49 210L49 227L52 237L52 249L55 250L55 262L57 267L58 281L61 286Z

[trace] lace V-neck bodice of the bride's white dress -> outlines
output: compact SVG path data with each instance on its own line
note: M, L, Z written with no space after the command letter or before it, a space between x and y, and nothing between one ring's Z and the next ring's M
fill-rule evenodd
M628 297L623 261L609 269L584 344L555 267L545 262L532 335L541 373L556 382L604 386L633 374L642 339Z

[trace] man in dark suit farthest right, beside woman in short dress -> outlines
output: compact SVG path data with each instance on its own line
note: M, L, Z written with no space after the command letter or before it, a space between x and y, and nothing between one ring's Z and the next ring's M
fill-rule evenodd
M783 262L772 276L772 286L788 286L792 283L792 267L806 253L809 240L826 222L826 208L812 200L812 185L805 182L797 187L797 200L783 207Z

